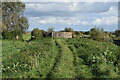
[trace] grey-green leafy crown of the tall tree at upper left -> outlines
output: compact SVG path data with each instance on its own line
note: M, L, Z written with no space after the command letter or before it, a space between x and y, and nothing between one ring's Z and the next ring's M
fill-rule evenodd
M2 2L2 21L7 30L28 29L28 20L22 14L24 10L23 2Z

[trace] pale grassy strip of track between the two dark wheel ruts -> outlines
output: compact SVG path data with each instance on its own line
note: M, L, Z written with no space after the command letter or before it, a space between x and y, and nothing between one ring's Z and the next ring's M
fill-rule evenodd
M56 39L58 46L59 62L51 73L52 78L74 78L73 54L70 49L61 41Z

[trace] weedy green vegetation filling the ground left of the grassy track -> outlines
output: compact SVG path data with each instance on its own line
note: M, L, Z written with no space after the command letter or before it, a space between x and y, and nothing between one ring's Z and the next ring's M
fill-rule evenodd
M46 78L57 55L52 39L29 43L4 40L3 49L3 78Z

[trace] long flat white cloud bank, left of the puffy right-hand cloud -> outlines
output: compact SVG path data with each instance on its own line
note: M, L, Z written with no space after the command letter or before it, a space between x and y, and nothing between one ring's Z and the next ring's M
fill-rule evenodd
M39 24L64 24L64 25L88 25L89 22L81 21L80 17L54 17L54 16L44 16L44 17L31 17L29 18L31 22Z

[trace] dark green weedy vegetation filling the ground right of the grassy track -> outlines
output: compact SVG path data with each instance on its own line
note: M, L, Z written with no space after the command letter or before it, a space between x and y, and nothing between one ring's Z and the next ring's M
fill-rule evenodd
M77 78L119 78L118 46L82 38L66 42L74 54Z

